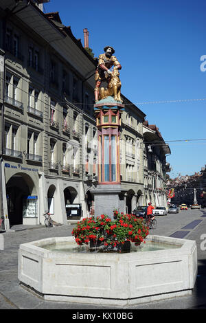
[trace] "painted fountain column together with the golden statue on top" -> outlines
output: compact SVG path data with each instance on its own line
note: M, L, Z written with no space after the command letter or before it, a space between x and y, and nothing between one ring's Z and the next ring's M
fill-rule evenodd
M92 191L95 216L104 213L111 218L114 209L121 212L125 209L120 185L119 158L121 113L124 109L119 80L119 69L122 66L113 56L114 53L113 47L104 47L104 54L100 54L95 71L94 115L98 128L98 185ZM102 82L106 82L105 89L100 87Z

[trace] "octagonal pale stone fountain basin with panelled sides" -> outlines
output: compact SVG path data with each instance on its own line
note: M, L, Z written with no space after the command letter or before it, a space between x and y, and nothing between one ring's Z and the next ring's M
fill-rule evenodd
M87 252L73 237L19 248L19 280L45 300L124 306L192 293L196 242L148 236L127 254Z

